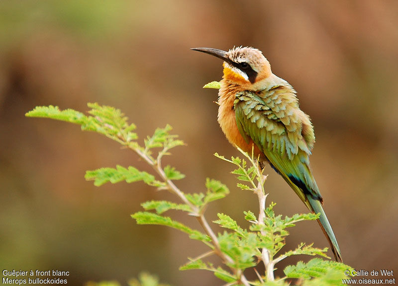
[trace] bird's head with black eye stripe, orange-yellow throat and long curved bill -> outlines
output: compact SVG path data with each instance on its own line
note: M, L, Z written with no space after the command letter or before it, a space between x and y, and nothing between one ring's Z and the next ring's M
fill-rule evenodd
M236 47L228 52L212 48L193 48L224 61L224 78L248 90L256 90L261 80L272 74L263 53L251 47Z

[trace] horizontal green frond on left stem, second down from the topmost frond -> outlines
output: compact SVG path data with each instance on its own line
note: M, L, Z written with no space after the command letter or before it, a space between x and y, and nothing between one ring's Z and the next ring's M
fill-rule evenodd
M151 184L155 177L147 172L140 172L134 167L128 167L127 169L117 165L114 168L100 168L93 171L87 171L85 175L86 180L94 180L95 186L101 186L107 182L112 184L126 181L127 183L144 181L146 184Z

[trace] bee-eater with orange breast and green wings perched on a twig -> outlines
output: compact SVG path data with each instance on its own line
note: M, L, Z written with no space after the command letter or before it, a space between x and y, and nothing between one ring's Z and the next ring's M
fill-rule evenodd
M299 108L296 90L271 71L263 53L252 47L228 52L192 48L223 60L218 91L218 123L227 140L280 174L305 206L319 214L318 223L336 261L340 248L323 211L309 155L315 143L312 123Z

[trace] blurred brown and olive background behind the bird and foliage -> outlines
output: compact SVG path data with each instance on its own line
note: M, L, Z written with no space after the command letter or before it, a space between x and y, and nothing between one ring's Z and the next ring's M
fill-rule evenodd
M221 285L210 273L178 270L205 250L199 242L130 218L141 202L173 196L141 183L85 181L86 170L102 166L149 171L134 153L24 114L50 104L87 111L87 102L99 102L122 109L141 140L171 124L188 144L167 158L187 175L180 188L199 192L206 177L221 180L231 194L208 209L208 220L222 212L247 227L243 211L257 212L256 198L237 190L231 166L212 155L237 151L216 121L217 91L201 88L221 78L221 61L189 48L248 45L296 88L312 118L312 167L344 261L398 271L397 14L394 0L1 1L1 270L70 271L69 285L125 283L143 270L175 286ZM268 203L281 214L307 212L267 172ZM180 219L199 228L192 217ZM316 222L292 229L287 248L300 241L328 246Z

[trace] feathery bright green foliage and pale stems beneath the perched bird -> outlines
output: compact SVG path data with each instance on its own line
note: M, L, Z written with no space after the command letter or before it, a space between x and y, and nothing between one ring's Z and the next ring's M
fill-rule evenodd
M219 88L219 82L211 82L205 87ZM288 229L303 220L315 220L318 214L295 214L291 217L283 217L275 214L275 204L271 203L267 208L265 201L264 183L267 176L263 175L263 168L258 166L253 154L250 156L239 149L242 157L227 159L215 153L215 156L227 161L234 166L232 174L238 180L237 187L243 191L256 194L259 198L260 211L258 215L253 211L244 212L244 217L249 223L248 228L240 226L235 219L228 214L217 214L214 224L221 226L224 231L215 233L207 222L204 212L208 205L216 200L223 199L229 194L226 185L217 180L207 178L202 192L186 193L181 191L175 181L185 178L185 175L170 165L163 166L162 159L170 155L170 150L176 146L184 145L177 135L171 134L172 128L158 128L152 136L138 142L138 136L134 132L134 124L128 123L127 117L119 110L110 106L101 106L97 103L89 103L91 110L87 115L72 110L60 110L54 106L36 107L26 113L27 117L41 117L66 121L81 126L82 130L100 133L125 147L134 151L141 159L147 162L153 172L140 171L134 166L100 167L86 172L85 178L94 181L96 186L107 182L112 184L121 181L132 183L142 181L158 190L168 190L176 195L178 202L172 201L148 201L141 204L144 211L132 214L132 218L138 224L157 224L168 226L188 235L189 238L198 240L208 247L208 251L189 258L188 263L180 267L181 270L200 269L212 272L217 278L227 285L290 285L292 279L298 279L301 285L341 285L341 279L345 278L344 270L352 270L342 263L331 262L320 258L314 258L307 263L299 262L297 265L285 268L285 276L274 278L275 265L281 260L292 255L310 255L327 258L327 248L319 249L312 244L299 243L296 249L284 251L286 239L289 236ZM202 229L193 229L178 219L165 213L169 211L180 212L196 217ZM220 258L219 265L210 263L207 258L217 255ZM258 275L255 281L248 281L244 271L255 268L258 264L264 264L266 272ZM129 282L130 286L162 286L158 280L148 274L142 274L139 280ZM89 283L88 286L118 286L117 282Z

